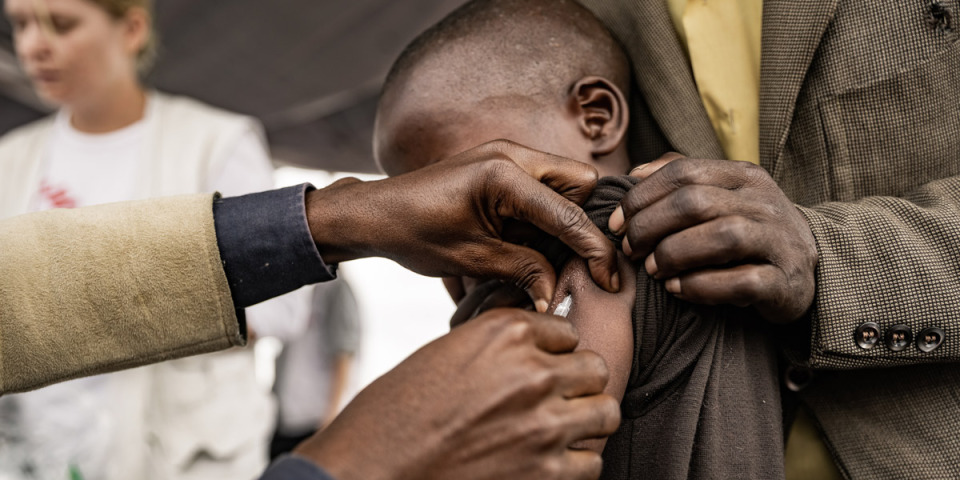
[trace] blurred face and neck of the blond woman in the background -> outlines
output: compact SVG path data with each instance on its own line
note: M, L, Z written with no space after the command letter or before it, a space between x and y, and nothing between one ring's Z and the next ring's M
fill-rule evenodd
M106 133L143 117L136 68L150 36L146 11L115 19L85 0L7 0L4 11L37 94L68 107L75 128Z

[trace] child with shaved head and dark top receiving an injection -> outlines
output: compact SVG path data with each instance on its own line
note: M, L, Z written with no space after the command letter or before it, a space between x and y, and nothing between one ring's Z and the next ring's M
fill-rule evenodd
M623 174L629 71L616 41L572 1L471 2L417 38L391 69L377 161L397 175L505 139L601 175ZM629 186L627 177L604 180L588 201L602 229ZM606 392L621 399L623 423L606 447L574 446L603 450L604 478L783 476L776 357L757 328L723 317L747 313L678 301L623 258L621 291L607 293L582 260L548 251L563 267L553 306L572 296L578 348L604 357ZM457 316L495 304L502 290L494 292L457 293L466 294Z

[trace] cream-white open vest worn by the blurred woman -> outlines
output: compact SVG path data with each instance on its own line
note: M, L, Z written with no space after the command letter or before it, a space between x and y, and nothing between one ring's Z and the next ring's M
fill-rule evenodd
M145 118L150 143L143 149L149 158L141 159L147 170L136 180L137 198L129 200L202 192L208 178L230 159L238 139L251 129L262 132L249 117L185 97L150 95L152 111ZM53 127L54 117L45 118L0 138L0 218L30 211ZM253 371L253 349L248 347L112 374L124 377L121 388L130 404L121 416L145 418L119 433L132 443L121 445L113 470L117 474L110 480L259 475L266 467L275 405L269 391L256 384ZM150 408L138 413L137 405ZM210 455L197 462L198 450Z

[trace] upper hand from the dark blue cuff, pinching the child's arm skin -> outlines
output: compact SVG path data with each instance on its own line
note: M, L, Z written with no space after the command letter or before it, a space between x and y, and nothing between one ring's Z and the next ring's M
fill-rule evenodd
M542 312L556 273L505 239L505 227L519 220L558 237L597 284L619 290L616 250L577 206L596 180L588 165L499 140L405 175L311 192L307 219L328 263L383 256L424 275L509 279Z

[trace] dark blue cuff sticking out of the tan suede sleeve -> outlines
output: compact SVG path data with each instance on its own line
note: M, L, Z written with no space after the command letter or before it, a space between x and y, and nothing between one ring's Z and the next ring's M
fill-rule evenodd
M304 199L311 190L304 183L213 202L220 259L237 310L336 278L307 225Z

